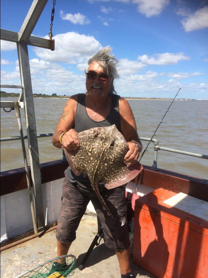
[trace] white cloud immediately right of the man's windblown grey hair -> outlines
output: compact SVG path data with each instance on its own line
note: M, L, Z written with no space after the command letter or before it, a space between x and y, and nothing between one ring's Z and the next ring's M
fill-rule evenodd
M142 65L141 62L131 61L125 58L125 59L120 59L119 67L121 68L120 74L125 75L125 74L134 74L140 71L143 67L145 67L145 65Z

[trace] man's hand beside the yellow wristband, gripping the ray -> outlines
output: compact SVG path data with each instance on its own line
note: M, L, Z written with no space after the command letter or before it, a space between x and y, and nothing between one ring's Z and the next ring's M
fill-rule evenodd
M67 151L77 150L80 145L77 132L73 128L63 134L61 142L62 148L65 148Z

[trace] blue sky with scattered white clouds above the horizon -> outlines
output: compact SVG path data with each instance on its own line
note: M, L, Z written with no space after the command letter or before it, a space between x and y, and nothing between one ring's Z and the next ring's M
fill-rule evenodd
M19 32L31 0L1 0L1 28ZM49 38L49 0L32 35ZM106 45L123 97L208 99L207 0L56 0L55 51L28 46L33 93L85 88L88 58ZM20 85L16 44L1 40L1 84ZM6 92L18 89L2 88Z

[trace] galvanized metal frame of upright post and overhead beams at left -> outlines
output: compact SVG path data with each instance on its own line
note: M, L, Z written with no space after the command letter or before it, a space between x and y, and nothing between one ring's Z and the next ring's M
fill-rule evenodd
M36 232L42 230L42 228L45 225L45 221L43 213L43 194L35 123L35 110L33 103L32 83L27 45L29 44L32 46L54 50L54 40L47 40L31 36L31 33L47 1L48 0L34 0L32 2L30 10L28 11L27 16L18 33L1 29L1 40L8 40L17 43L18 61L22 86L1 85L1 87L22 89L18 99L18 103L19 107L24 108L25 111L27 141L31 166L31 182L34 189L36 226L38 228L38 230L36 230L34 225L34 229L36 230ZM1 102L1 107L14 108L14 102Z

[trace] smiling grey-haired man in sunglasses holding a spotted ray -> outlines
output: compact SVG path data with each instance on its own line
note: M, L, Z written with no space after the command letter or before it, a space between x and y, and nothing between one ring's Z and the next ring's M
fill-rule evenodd
M141 142L128 102L115 94L113 81L119 77L116 70L118 60L110 54L111 50L109 46L104 47L89 59L88 70L85 72L87 92L73 95L67 101L52 142L57 148L62 147L70 152L79 148L78 132L115 124L128 143L129 150L124 157L124 163L129 167L139 157ZM89 194L81 192L77 182L84 184ZM111 205L113 219L103 210L98 198L90 193L92 187L88 177L82 174L76 176L70 167L65 171L62 208L56 229L57 255L67 254L91 200L103 227L105 244L116 251L121 277L135 277L130 268L127 221L123 226L120 223L121 218L126 217L125 187L108 190L103 183L99 185L102 187L101 196L108 206Z

